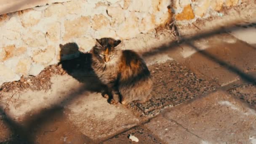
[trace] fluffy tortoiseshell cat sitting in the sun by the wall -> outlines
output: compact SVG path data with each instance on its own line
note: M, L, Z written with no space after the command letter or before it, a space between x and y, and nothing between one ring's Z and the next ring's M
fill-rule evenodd
M94 72L107 85L107 94L103 96L111 104L145 103L152 91L149 69L138 53L117 48L120 43L121 40L110 37L96 39L90 52Z

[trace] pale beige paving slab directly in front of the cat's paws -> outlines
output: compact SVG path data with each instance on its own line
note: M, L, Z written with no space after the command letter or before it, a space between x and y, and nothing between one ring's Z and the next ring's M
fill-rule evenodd
M108 139L140 123L129 109L107 103L100 93L81 93L67 109L69 120L93 141Z

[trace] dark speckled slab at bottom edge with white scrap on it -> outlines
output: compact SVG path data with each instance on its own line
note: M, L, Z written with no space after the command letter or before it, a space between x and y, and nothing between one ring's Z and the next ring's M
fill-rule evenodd
M128 137L136 136L139 139L139 142L131 141ZM117 136L114 136L107 141L104 141L102 144L162 144L162 142L156 138L152 132L144 128L143 126L139 126L136 128L132 128L129 131L125 131Z

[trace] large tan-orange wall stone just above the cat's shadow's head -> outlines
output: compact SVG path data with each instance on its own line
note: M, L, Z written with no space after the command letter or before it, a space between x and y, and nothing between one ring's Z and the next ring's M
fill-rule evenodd
M64 22L64 27L65 34L63 40L81 37L91 27L90 16L82 16L74 20L67 20Z

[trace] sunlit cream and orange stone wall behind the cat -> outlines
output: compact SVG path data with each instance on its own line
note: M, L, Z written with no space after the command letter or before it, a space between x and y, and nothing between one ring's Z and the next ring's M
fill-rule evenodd
M125 41L170 22L172 17L189 23L240 3L242 0L71 0L3 14L0 85L22 75L38 75L60 59L77 56L69 50L67 57L60 56L60 44L75 42L86 52L96 38Z

